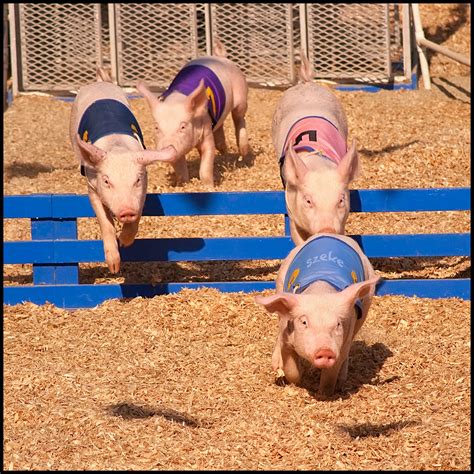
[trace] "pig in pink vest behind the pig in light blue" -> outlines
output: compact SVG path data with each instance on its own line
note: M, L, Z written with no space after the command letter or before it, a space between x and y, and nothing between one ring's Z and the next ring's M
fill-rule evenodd
M329 88L311 82L301 53L302 83L286 90L272 119L290 233L296 245L321 232L345 233L348 185L360 173L355 140L347 149L347 117Z

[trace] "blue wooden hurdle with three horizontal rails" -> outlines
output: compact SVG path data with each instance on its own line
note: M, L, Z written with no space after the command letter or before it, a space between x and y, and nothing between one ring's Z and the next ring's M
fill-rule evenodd
M352 190L351 212L470 210L470 188ZM123 262L273 260L293 248L284 193L149 194L145 216L285 215L284 236L137 239L120 249ZM103 262L100 240L78 240L77 219L95 217L88 196L37 194L4 197L4 218L31 219L31 241L4 242L5 264L33 264L33 285L4 287L9 305L31 301L63 308L96 306L110 298L151 297L182 288L261 291L271 281L170 282L158 285L79 283L79 263ZM470 256L470 234L352 235L369 258ZM470 279L384 280L377 295L470 299Z

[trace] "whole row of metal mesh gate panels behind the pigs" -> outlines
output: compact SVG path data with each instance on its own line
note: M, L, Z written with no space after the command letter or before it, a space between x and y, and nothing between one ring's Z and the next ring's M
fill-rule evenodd
M290 86L299 49L316 79L410 79L408 5L344 3L9 4L14 94L77 90L110 66L114 81L166 88L218 36L252 85ZM403 9L403 34L399 11ZM403 71L402 71L403 69ZM397 75L398 74L398 75Z

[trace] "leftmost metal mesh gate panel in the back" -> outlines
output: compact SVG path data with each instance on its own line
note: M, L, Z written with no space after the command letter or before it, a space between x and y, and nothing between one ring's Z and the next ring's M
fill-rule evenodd
M19 3L9 13L19 30L12 44L20 90L69 91L95 79L102 64L100 4Z

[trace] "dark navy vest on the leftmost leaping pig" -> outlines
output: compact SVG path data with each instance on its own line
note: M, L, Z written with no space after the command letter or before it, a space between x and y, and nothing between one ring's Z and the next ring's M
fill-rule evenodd
M130 135L145 149L137 119L125 104L114 99L100 99L93 102L79 122L78 133L89 143L95 143L99 138L115 133ZM81 174L85 176L84 165L81 165Z

